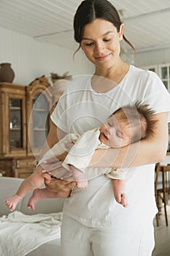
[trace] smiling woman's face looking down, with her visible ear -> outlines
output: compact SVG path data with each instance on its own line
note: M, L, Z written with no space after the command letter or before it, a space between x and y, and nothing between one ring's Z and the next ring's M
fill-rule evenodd
M123 23L120 31L107 20L96 18L85 26L81 47L97 69L109 69L117 64L120 55L120 40L123 39Z

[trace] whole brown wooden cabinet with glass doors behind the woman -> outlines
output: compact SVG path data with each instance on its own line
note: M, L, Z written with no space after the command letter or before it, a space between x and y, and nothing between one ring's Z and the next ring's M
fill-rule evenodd
M0 83L1 175L26 178L34 171L59 97L42 83Z

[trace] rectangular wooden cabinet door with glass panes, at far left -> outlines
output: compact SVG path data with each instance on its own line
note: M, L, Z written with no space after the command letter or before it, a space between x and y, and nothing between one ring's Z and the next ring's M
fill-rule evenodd
M26 155L25 86L0 83L0 156Z

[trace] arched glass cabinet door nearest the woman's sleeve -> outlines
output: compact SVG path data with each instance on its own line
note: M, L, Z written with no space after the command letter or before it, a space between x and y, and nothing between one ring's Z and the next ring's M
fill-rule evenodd
M46 88L28 91L30 108L28 110L28 155L34 154L39 159L39 154L50 129L50 108L53 95Z

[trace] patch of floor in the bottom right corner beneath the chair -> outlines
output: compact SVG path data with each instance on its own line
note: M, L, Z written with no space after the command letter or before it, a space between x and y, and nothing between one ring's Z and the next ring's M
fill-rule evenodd
M159 227L157 227L154 220L155 226L155 249L152 256L169 256L170 255L170 206L168 208L169 214L169 226L166 227L164 212L159 217Z

